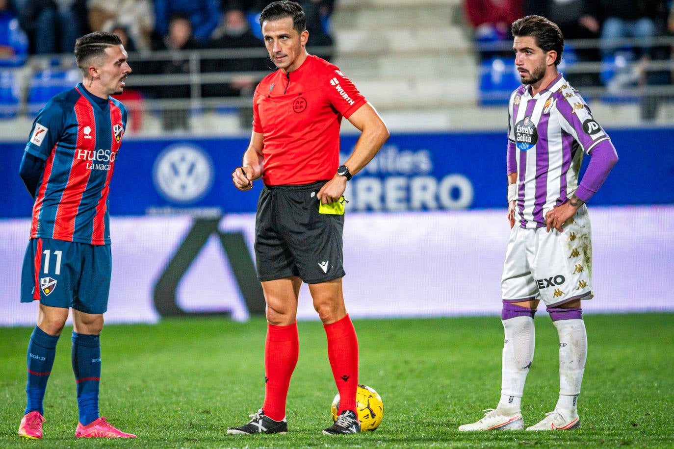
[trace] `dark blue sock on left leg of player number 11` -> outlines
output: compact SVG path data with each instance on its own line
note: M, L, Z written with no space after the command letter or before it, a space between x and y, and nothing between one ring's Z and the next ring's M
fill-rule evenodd
M47 389L47 380L54 365L56 343L59 336L54 337L35 326L28 342L27 362L28 382L26 382L26 413L38 411L44 415L42 399Z

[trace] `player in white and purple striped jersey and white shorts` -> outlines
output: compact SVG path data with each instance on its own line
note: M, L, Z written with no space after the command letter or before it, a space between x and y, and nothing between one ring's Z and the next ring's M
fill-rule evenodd
M512 24L522 85L510 97L508 220L501 320L501 399L462 431L524 429L524 381L534 356L534 314L542 300L559 334L559 399L527 430L580 426L587 337L581 300L592 298L592 240L585 207L617 155L580 94L557 71L564 40L556 24L529 15ZM578 183L583 156L590 164ZM556 346L555 346L556 347Z

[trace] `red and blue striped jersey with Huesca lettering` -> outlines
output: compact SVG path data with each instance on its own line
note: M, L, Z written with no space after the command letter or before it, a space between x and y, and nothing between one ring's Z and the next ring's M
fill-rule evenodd
M110 244L108 193L127 110L96 103L82 83L38 112L26 151L44 160L30 238Z

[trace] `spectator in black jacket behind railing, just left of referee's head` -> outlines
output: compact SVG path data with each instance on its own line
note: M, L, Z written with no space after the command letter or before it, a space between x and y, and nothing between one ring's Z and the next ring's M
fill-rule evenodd
M230 57L222 59L203 59L202 72L255 72L262 71L269 73L271 61L266 57L266 53L259 50L262 40L259 40L251 32L251 28L246 20L245 13L241 9L228 9L222 13L220 25L212 34L212 39L206 44L206 48L248 48L251 55L259 54L259 57ZM245 96L252 98L255 85L264 76L241 76L228 83L208 83L202 86L202 96L204 97L237 97ZM239 108L241 125L249 127L253 120L250 106Z

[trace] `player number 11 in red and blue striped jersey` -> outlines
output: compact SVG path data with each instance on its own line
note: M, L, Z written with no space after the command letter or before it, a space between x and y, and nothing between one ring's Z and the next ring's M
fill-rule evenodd
M24 439L42 438L42 400L59 335L73 309L72 366L78 438L135 438L98 414L100 332L112 258L108 193L127 122L121 94L131 72L115 34L95 32L75 43L83 80L38 112L20 176L35 202L24 257L21 301L40 301L28 343Z

